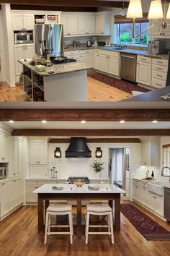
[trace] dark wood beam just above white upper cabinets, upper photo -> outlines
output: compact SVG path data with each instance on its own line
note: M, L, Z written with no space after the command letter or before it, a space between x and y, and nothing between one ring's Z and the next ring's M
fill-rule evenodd
M97 7L53 7L45 5L11 4L12 10L62 11L62 12L97 12Z

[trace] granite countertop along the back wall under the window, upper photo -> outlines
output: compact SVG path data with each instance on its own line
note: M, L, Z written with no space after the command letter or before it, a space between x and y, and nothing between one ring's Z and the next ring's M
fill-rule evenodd
M87 46L78 46L74 48L73 46L69 46L68 48L65 48L64 51L82 51L82 50L90 50L90 49L99 49L99 50L106 50L106 51L119 51L120 53L125 53L125 54L138 54L142 56L147 56L150 58L155 58L155 59L168 59L169 54L149 54L148 51L143 51L143 50L136 50L136 49L131 49L131 48L125 48L121 50L113 49L112 46L97 46L97 47L87 47Z

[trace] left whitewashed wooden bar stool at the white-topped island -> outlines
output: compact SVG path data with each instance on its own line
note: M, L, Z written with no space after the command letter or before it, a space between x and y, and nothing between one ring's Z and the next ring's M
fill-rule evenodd
M65 216L68 215L69 224L68 225L51 225L51 216ZM69 231L50 231L50 228L58 227L58 228L68 228ZM73 244L73 216L72 216L72 206L71 205L49 205L46 210L46 219L45 219L45 238L44 243L47 244L47 236L50 234L70 234L70 241Z

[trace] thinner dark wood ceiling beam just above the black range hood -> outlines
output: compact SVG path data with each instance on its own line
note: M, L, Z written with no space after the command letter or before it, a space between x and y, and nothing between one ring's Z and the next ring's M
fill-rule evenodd
M12 136L170 136L170 129L14 129Z

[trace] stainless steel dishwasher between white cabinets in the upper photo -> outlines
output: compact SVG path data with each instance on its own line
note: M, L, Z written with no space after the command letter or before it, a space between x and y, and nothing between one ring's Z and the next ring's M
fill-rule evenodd
M135 54L120 53L120 78L136 82L136 59Z

